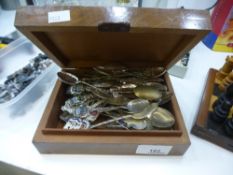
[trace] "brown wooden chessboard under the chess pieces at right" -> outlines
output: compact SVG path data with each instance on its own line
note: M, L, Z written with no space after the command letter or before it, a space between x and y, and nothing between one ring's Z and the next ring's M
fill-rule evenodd
M209 71L199 113L191 133L233 151L233 139L225 135L224 125L219 125L210 119L210 115L212 115L212 104L216 100L214 94L220 93L215 83L217 72L215 69L210 69Z

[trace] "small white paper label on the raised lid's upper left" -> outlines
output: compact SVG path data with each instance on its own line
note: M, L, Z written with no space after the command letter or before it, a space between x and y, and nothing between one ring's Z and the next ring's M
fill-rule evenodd
M69 10L48 12L48 23L65 22L65 21L70 21Z

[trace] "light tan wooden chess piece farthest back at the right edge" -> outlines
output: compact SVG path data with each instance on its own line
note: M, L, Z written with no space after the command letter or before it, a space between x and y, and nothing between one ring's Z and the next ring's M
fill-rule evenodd
M233 69L233 56L228 56L223 67L216 74L216 79L222 81Z

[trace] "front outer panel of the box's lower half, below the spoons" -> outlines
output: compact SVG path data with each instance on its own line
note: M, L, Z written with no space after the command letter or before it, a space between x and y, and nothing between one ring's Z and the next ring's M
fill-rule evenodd
M112 155L143 155L137 154L137 144L74 144L74 143L34 143L40 153L44 154L112 154ZM159 144L161 146L162 144ZM156 146L156 145L153 145ZM165 145L164 145L165 146ZM168 146L168 145L166 145ZM167 154L144 155L183 155L188 144L169 145L171 151Z

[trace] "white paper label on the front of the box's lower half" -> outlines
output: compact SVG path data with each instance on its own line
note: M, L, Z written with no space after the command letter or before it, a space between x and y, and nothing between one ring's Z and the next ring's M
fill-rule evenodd
M171 149L167 145L138 145L136 154L168 155Z

